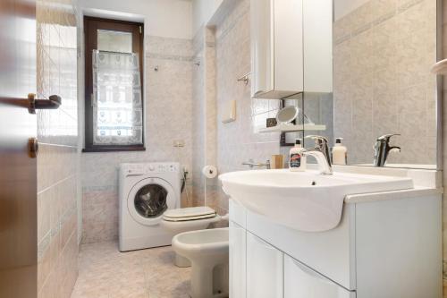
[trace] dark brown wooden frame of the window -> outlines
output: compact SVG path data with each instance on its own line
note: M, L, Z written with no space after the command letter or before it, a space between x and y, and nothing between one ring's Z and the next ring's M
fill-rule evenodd
M97 30L115 30L132 33L132 52L139 55L141 84L142 144L139 145L94 145L93 144L93 65L92 52L97 49ZM84 149L82 152L144 151L145 148L145 105L144 105L144 24L134 21L84 16L84 53L85 53L85 118Z

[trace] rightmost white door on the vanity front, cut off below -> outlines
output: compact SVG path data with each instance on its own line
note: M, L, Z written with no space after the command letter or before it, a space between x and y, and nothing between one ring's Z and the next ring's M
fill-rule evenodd
M284 256L284 298L355 298L356 293Z

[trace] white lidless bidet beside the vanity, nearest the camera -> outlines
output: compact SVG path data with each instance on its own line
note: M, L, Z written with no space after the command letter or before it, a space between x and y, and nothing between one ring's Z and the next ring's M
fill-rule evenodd
M177 234L173 250L191 262L191 298L228 297L227 227Z

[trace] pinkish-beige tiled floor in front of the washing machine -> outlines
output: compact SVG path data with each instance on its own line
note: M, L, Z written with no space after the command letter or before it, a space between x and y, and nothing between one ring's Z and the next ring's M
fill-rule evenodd
M173 265L171 247L118 251L117 243L80 247L72 298L188 298L190 268Z

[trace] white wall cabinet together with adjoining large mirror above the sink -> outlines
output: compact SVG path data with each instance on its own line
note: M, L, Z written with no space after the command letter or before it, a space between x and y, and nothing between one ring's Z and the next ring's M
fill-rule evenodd
M375 144L392 134L385 166L436 169L441 152L438 0L252 0L252 98L282 99L300 114L282 146L309 134L348 165L374 166ZM312 144L305 141L305 146Z

